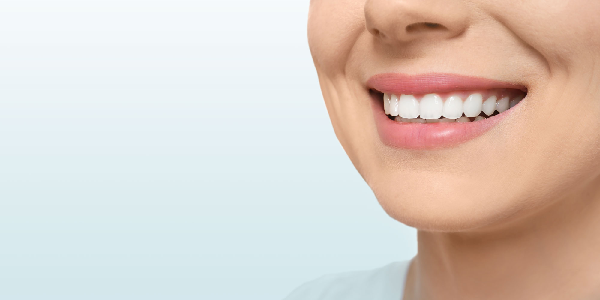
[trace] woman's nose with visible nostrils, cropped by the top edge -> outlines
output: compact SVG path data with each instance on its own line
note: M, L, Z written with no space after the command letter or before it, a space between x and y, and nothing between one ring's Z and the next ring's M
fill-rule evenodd
M461 0L367 0L367 29L385 43L457 37L469 26Z

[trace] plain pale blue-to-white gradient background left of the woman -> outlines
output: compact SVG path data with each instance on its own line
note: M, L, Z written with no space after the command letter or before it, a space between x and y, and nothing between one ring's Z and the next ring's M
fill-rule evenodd
M416 253L335 139L308 1L0 2L0 299L281 299Z

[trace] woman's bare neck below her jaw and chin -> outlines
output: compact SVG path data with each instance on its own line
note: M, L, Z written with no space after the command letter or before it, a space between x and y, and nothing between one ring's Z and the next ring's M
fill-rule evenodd
M477 232L418 232L404 299L600 299L600 181Z

